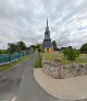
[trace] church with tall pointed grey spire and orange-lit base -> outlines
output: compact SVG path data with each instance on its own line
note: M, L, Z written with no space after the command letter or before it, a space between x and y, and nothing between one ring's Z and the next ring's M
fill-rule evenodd
M45 32L45 40L44 40L44 52L52 53L52 44L51 44L50 31L48 26L48 19L47 19L47 26L46 26L46 32Z

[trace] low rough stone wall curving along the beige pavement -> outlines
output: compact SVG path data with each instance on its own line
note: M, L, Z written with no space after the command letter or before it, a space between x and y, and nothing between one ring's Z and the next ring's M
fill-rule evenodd
M57 65L54 61L47 63L41 59L42 71L55 79L64 79L87 75L87 64L70 64L65 66Z

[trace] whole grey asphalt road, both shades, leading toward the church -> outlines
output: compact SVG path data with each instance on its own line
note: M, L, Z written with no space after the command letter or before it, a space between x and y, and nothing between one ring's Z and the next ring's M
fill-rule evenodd
M33 67L37 57L38 54L35 54L15 68L0 74L0 101L11 101L13 97L17 97L17 101L61 101L47 93L35 80Z

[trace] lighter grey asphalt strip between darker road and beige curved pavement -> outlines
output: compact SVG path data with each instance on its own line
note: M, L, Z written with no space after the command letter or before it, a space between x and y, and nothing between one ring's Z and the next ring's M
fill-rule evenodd
M51 85L51 83L50 83ZM22 78L17 101L59 101L42 90L34 78L33 67L27 68Z

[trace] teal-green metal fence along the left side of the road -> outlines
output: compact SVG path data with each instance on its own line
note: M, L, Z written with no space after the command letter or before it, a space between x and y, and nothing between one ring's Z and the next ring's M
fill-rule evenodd
M27 52L14 53L14 54L0 54L0 64L8 64L10 61L17 60L23 56L28 55Z

